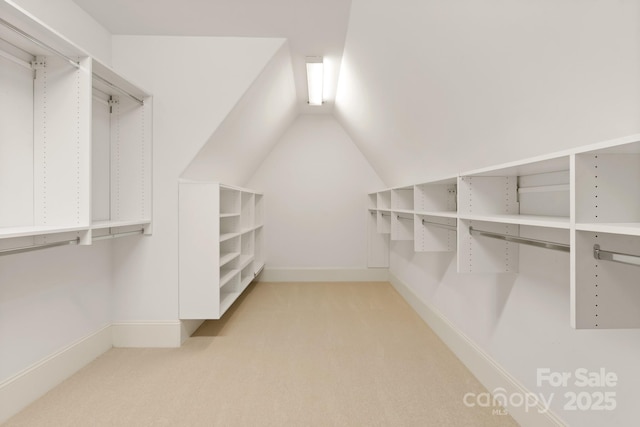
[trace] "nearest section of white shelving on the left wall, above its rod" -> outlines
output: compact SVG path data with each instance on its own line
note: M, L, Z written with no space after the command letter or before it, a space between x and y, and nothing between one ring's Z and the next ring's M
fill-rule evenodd
M90 243L91 59L9 5L0 18L0 238Z

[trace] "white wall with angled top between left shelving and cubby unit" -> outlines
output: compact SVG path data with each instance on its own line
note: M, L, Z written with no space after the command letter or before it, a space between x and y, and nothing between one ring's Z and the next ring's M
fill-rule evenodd
M114 37L114 68L154 95L153 236L114 242L115 322L177 321L178 179L283 42Z

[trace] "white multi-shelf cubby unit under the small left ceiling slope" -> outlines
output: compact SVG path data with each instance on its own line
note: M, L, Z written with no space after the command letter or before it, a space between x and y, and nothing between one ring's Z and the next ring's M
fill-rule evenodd
M180 182L180 318L220 319L264 267L264 197Z

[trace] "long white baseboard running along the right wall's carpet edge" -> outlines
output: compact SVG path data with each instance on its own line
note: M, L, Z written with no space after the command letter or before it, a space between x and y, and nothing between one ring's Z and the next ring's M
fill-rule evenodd
M391 272L389 273L389 281L489 392L502 389L507 396L514 393L524 396L529 393L529 390L513 378L491 356L449 322L438 310L418 298L407 284ZM462 396L460 398L462 399ZM544 411L542 406L529 408L529 410L526 410L524 406L507 407L507 410L520 425L525 427L565 426L565 423L557 415L551 411Z

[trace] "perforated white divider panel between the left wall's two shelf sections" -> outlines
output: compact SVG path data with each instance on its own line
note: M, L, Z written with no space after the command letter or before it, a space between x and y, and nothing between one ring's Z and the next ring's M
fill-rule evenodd
M57 57L34 80L36 225L90 223L91 60L73 68Z

